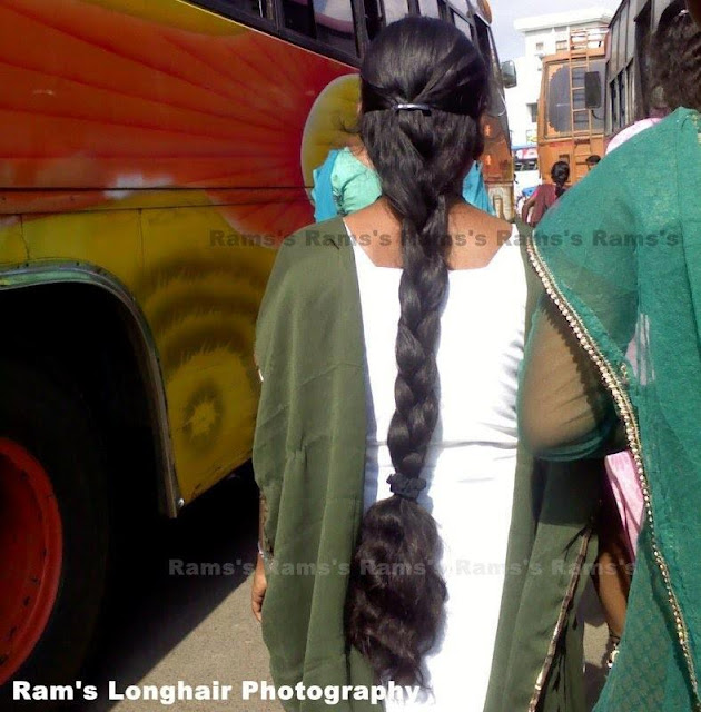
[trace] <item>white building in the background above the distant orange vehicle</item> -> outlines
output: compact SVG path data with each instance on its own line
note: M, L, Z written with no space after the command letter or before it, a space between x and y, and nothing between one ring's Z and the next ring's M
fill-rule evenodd
M514 27L524 36L525 53L514 60L519 85L506 90L514 148L535 146L537 142L537 102L543 57L567 51L572 32L608 28L612 18L611 10L595 7L516 20Z

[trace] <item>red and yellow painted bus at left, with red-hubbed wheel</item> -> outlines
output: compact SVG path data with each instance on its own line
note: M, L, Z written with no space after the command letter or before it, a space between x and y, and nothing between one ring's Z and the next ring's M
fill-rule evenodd
M75 679L120 527L249 458L273 248L411 12L485 53L507 210L483 0L0 0L0 683Z

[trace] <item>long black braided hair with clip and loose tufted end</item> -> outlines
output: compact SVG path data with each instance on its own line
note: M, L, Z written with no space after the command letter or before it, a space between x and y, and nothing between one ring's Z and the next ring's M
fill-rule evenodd
M424 684L422 660L438 633L446 587L434 564L438 533L417 503L438 421L436 347L447 293L448 210L484 150L488 105L480 52L453 24L411 17L373 42L361 70L359 131L383 195L402 220L403 275L388 433L394 495L365 515L346 632L377 676Z

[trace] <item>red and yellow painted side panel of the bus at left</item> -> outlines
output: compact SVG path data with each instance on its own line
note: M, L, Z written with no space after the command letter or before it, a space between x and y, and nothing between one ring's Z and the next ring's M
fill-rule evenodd
M6 0L0 55L0 288L45 260L126 286L189 502L250 455L271 248L313 220L357 81L324 90L354 68L177 0Z

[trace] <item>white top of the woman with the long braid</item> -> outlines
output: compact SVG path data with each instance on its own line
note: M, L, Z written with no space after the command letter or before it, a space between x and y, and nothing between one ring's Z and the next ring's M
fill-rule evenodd
M392 495L387 431L402 269L375 266L355 243L354 253L366 348L367 510ZM388 701L393 712L482 712L505 578L526 305L517 230L486 267L448 274L437 352L441 417L423 474L428 486L418 500L438 524L448 600L442 635L425 659L431 690L412 704Z

